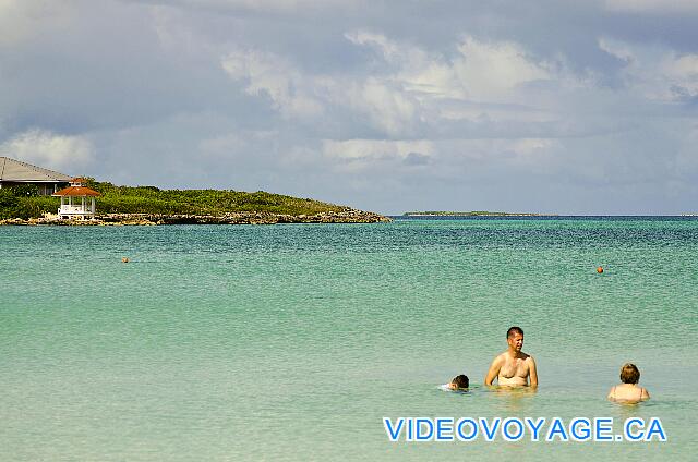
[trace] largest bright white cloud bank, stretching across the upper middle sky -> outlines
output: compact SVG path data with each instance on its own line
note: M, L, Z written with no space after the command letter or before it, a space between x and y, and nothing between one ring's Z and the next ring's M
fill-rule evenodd
M534 60L513 41L467 36L447 57L385 35L357 31L347 40L376 51L370 73L316 74L290 59L258 50L233 50L221 59L227 74L249 95L268 97L285 118L313 119L337 109L368 120L392 138L412 137L440 120L550 119L514 107L454 109L454 101L518 102L526 83L575 80L564 63ZM517 99L518 95L518 99ZM446 101L446 100L449 100ZM445 106L446 105L446 106Z

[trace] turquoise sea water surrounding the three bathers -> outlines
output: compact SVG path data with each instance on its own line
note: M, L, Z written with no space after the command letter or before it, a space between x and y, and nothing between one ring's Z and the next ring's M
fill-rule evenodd
M2 227L0 248L0 460L698 451L695 219ZM538 393L438 389L481 385L512 325ZM605 401L627 361L650 402ZM390 443L383 416L655 416L669 441Z

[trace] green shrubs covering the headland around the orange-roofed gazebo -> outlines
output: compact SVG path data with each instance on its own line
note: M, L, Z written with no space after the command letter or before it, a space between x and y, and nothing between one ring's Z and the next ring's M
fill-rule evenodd
M145 214L222 217L230 214L256 214L302 217L360 212L350 207L263 191L245 193L219 190L160 190L155 186L117 186L93 179L87 179L85 185L101 194L96 200L97 216ZM60 198L39 196L36 186L22 185L0 190L0 218L37 218L46 212L56 214L59 206ZM375 214L361 214L380 217Z

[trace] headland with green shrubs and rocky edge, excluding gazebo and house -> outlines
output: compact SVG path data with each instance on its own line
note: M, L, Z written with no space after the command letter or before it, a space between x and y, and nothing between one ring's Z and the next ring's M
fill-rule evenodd
M160 190L117 186L85 179L100 193L95 220L51 216L58 197L40 195L34 185L0 189L0 224L272 224L390 221L378 214L264 191Z

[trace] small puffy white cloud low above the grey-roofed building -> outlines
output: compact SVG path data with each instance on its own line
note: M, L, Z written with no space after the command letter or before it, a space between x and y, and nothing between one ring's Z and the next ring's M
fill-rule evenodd
M0 145L2 156L55 169L80 170L94 159L89 139L29 130Z

